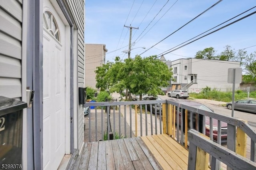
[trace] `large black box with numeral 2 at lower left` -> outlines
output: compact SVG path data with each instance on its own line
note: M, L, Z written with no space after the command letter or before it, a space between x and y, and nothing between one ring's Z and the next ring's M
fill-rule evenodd
M22 164L22 114L27 103L0 96L0 165Z

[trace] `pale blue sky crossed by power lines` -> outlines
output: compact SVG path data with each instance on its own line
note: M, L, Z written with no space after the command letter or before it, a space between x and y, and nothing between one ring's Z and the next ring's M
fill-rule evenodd
M216 2L218 0L86 0L85 43L105 44L108 49L106 61L113 61L116 56L125 59L128 54L122 51L128 50L130 34L130 30L124 27L126 25L139 28L132 30L132 58L146 50L141 54L142 57L160 55L256 6L256 0L222 0L202 16L166 38ZM256 8L242 16L254 11ZM164 38L166 39L163 40ZM163 41L160 42L161 40ZM158 44L155 45L156 43ZM155 46L152 47L153 45ZM206 47L214 47L218 54L226 45L235 50L255 45L245 50L248 53L256 51L256 14L172 51L164 57L170 61L194 57L197 51Z

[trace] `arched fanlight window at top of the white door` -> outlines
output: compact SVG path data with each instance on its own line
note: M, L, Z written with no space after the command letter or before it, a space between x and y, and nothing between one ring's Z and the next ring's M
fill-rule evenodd
M44 28L60 42L60 32L54 16L46 11L44 12Z

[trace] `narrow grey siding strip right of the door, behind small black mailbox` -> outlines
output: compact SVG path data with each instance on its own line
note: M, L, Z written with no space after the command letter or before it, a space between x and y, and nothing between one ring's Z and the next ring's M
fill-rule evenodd
M77 57L78 57L78 87L84 87L84 0L68 0L68 6L74 16L75 27L78 32ZM76 49L75 49L76 50ZM76 79L74 77L74 79ZM74 89L76 91L76 89ZM78 94L77 94L78 95ZM76 111L74 112L76 114ZM78 106L78 149L80 150L84 143L84 109L83 105ZM76 127L75 127L76 128ZM75 134L76 135L76 134Z

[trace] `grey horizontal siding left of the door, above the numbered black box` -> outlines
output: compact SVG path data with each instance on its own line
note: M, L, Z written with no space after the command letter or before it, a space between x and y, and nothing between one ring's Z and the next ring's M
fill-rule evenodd
M21 1L0 2L0 23L0 96L21 99Z

